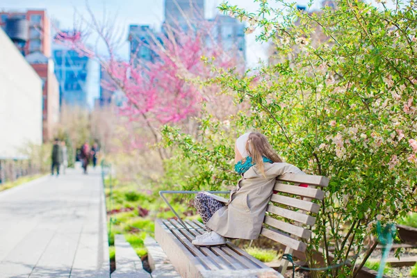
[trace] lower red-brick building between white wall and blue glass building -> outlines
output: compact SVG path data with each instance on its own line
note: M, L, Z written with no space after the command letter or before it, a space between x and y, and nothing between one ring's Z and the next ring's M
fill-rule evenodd
M26 60L42 79L42 137L51 141L59 122L59 85L54 72L54 61L40 52L26 56Z

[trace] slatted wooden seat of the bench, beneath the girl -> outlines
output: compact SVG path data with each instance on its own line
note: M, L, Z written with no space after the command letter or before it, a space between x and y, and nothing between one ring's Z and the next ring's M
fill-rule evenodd
M279 277L279 272L240 250L229 241L226 245L198 247L191 243L203 234L204 225L186 220L185 229L177 220L156 220L155 238L181 277Z

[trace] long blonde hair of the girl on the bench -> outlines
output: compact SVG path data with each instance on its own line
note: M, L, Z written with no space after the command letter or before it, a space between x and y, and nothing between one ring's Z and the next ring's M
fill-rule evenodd
M269 158L273 162L282 162L282 159L278 156L272 146L268 142L268 139L259 132L251 132L249 138L247 138L246 151L252 161L258 166L261 173L265 176L265 169L263 167L263 156Z

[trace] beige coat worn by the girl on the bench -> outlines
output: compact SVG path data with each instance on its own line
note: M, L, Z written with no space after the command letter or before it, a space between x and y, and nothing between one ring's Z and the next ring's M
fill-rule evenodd
M265 177L251 167L231 190L229 202L214 213L207 227L227 238L256 239L261 233L266 206L275 179L281 174L303 172L288 163L264 163Z

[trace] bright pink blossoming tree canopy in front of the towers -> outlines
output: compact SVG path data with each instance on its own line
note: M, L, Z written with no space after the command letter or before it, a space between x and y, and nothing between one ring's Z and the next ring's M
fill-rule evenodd
M195 129L198 124L192 122L193 117L199 116L202 105L206 109L222 111L219 117L234 113L236 105L231 97L218 95L219 89L215 85L201 85L213 78L210 65L223 69L244 65L238 64L238 58L230 56L217 43L217 38L211 34L215 22L190 19L188 31L179 26L165 26L165 34L158 38L149 33L152 41L145 47L154 59L146 61L133 56L126 61L117 55L120 32L113 24L114 20L100 22L88 6L87 10L88 18L79 15L76 20L76 31L60 32L56 41L74 49L80 56L98 60L110 76L110 80L101 85L124 93L127 101L119 108L119 115L129 119L130 130L135 124L141 128L146 126L151 135L148 138L132 134L131 147L145 146L147 140L154 144L160 142L158 130L164 124ZM88 45L92 38L106 46L106 53L101 54ZM169 156L163 148L158 148L158 154L161 160Z

